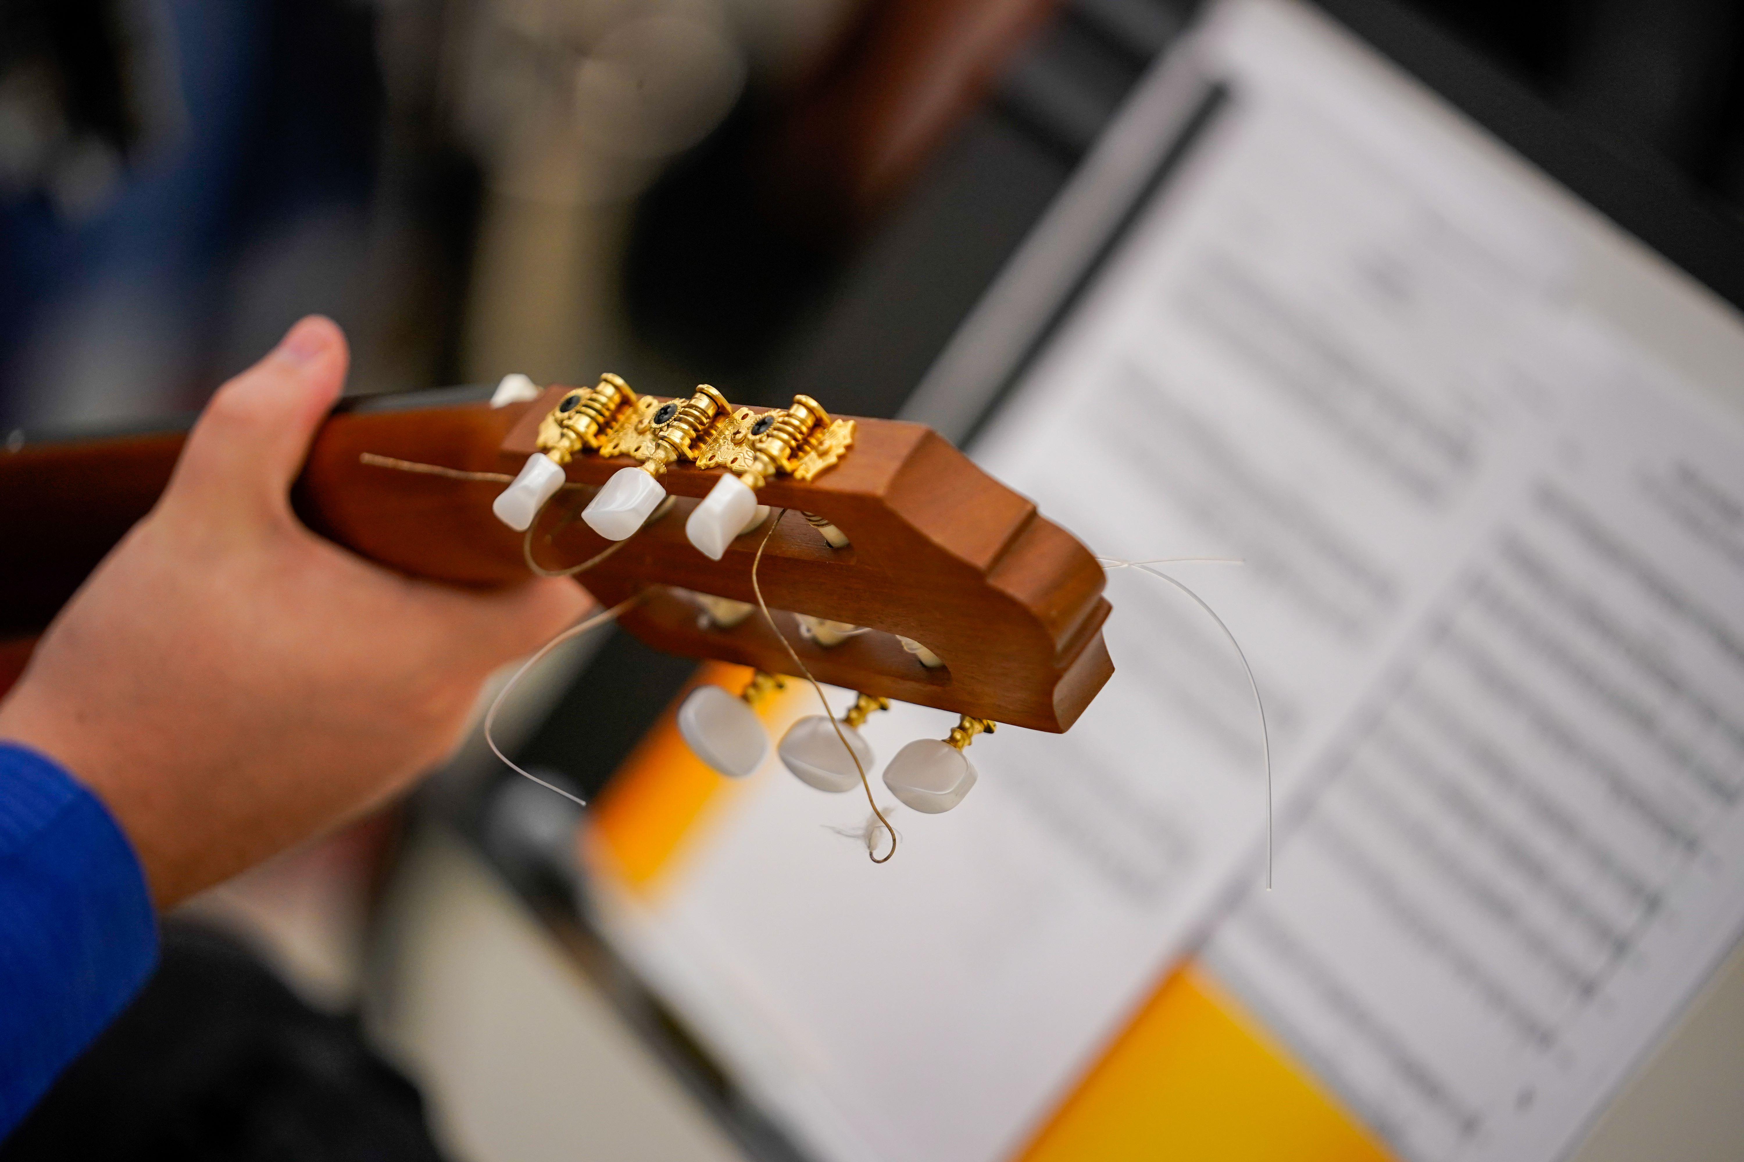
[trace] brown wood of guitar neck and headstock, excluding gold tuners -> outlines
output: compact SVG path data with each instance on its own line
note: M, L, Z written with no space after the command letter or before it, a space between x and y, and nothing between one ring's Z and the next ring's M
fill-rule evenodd
M364 453L471 472L514 474L535 449L539 422L567 388L528 404L358 409L331 416L296 488L303 519L352 551L413 575L459 584L527 577L523 538L490 512L501 481L467 481L366 463ZM101 551L143 516L180 439L26 444L0 455L7 497L0 537L0 598L30 594L3 631L40 627ZM576 456L574 484L598 486L624 458ZM117 488L103 479L113 465ZM661 477L675 507L579 577L600 601L645 594L623 625L645 643L689 657L790 672L760 617L710 627L682 591L752 601L752 556L767 524L720 561L684 537L685 514L717 470L673 465ZM577 517L591 491L565 490L532 530L546 568L584 561L610 542ZM1069 533L977 469L930 429L858 420L849 455L813 481L769 481L759 500L781 512L759 570L783 632L821 681L999 723L1060 732L1113 674L1102 643L1109 605L1102 570ZM839 526L849 547L830 549L802 516ZM774 517L771 517L774 519ZM96 521L96 524L92 524ZM44 580L47 578L47 580ZM867 627L823 648L802 639L795 613ZM896 636L944 660L930 669Z

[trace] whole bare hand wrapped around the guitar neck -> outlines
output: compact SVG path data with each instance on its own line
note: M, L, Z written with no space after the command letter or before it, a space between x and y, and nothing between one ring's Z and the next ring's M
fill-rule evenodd
M160 908L403 789L459 742L485 676L588 605L569 580L401 577L296 521L347 361L309 317L218 388L157 507L0 702L0 739L101 796Z

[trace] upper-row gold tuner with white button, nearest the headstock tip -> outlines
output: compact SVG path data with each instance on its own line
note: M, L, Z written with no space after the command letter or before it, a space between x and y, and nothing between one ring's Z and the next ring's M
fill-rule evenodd
M759 523L759 488L781 474L797 481L814 479L834 467L853 443L855 422L832 420L811 395L795 395L785 411L755 415L743 409L734 416L727 439L698 458L698 467L724 463L731 470L691 510L685 537L703 556L719 561L734 538ZM832 523L811 514L806 519L830 545L848 545L848 537Z

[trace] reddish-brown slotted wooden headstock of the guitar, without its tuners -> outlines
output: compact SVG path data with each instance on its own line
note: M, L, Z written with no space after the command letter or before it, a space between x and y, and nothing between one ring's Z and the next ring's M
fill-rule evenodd
M541 429L549 446L551 418L574 397L576 388L551 387L525 404L502 458L521 467L541 451ZM652 418L673 402L685 401L644 395L631 415ZM787 648L746 608L762 545L764 599L820 681L1034 730L1071 726L1113 674L1100 632L1109 613L1102 568L1034 503L923 425L846 422L851 444L834 449L827 470L762 481L755 500L771 512L727 540L719 559L691 542L699 502L750 463L745 446L757 423L781 415L732 409L705 455L664 465L657 481L675 502L582 584L607 605L642 594L619 620L657 650L785 674L794 669ZM745 434L736 444L734 432ZM600 449L612 455L572 455L565 479L605 486L633 469L640 460L624 453L633 425L619 436ZM593 497L565 490L544 503L530 528L544 568L588 561L614 544L581 519ZM827 531L846 544L832 545Z

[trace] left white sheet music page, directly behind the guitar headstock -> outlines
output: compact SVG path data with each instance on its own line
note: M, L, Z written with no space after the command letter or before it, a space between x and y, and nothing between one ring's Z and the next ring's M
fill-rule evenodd
M1378 117L1360 77L1329 87L1266 5L1235 12L1214 139L975 455L1100 554L1245 559L1172 571L1254 662L1284 803L1557 455L1591 359L1554 220L1468 139ZM1008 1157L1261 875L1228 645L1148 577L1109 596L1118 672L1083 719L977 740L980 784L949 815L898 812L891 864L823 826L858 826L862 800L771 768L652 909L621 913L818 1157ZM950 721L907 707L867 735L882 760Z

